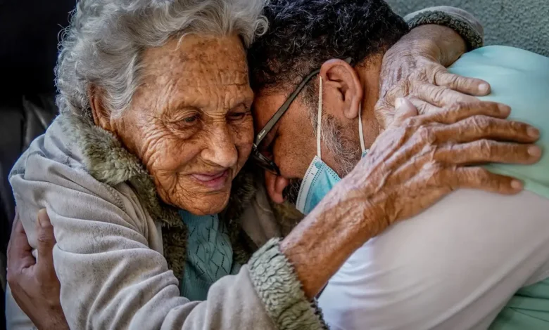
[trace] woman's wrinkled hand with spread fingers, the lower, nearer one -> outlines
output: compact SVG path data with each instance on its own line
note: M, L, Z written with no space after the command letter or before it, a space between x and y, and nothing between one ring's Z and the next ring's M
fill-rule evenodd
M505 120L510 114L505 105L472 103L417 115L408 100L397 103L391 126L334 188L334 195L323 200L331 200L329 208L362 209L365 214L353 218L365 219L365 238L415 216L458 188L515 194L522 190L520 181L472 165L532 164L541 157L539 147L529 144L539 132Z

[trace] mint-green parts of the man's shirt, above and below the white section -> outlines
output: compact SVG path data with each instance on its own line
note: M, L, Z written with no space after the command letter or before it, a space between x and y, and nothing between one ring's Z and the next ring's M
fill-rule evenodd
M488 81L492 93L484 100L510 105L511 119L540 129L538 145L545 153L538 164L486 167L524 180L526 190L549 198L549 58L518 48L488 46L463 55L450 72ZM549 280L517 291L490 329L549 329Z

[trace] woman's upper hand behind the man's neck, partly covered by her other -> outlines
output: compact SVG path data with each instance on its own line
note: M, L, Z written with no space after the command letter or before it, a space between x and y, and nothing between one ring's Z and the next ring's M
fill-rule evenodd
M414 39L411 34L398 41L383 58L380 98L374 110L382 128L391 124L397 98L409 96L419 114L428 114L453 103L474 102L474 96L490 93L486 81L446 70L441 62L449 65L455 55L450 60L441 58L441 50L434 42Z

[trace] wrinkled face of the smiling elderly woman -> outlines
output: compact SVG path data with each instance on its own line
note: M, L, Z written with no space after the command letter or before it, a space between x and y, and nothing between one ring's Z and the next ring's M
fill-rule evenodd
M238 37L188 35L144 52L143 84L111 120L164 202L191 213L222 211L251 152L253 92Z

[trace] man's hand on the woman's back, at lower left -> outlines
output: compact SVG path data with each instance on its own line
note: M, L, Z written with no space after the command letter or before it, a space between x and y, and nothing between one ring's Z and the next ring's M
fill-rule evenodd
M8 284L15 302L39 330L69 329L61 308L61 284L53 268L53 226L46 210L38 213L38 261L32 256L17 215L8 245Z

